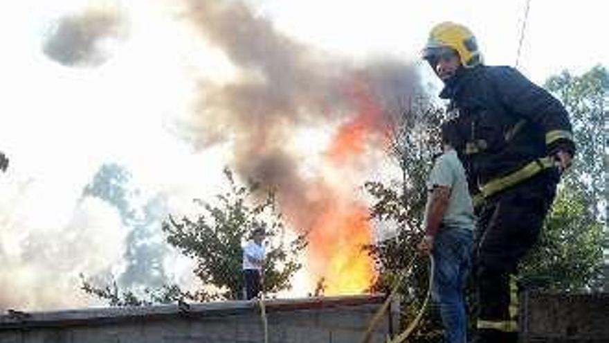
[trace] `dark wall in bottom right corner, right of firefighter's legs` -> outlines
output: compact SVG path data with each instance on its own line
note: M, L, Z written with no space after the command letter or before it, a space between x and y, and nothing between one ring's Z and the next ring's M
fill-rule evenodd
M609 293L525 292L521 305L524 343L609 342Z

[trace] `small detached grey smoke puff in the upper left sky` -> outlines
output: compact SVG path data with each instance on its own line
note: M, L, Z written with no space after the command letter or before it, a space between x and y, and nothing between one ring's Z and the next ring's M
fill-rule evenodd
M44 42L51 59L70 67L96 67L110 53L104 43L125 35L125 19L112 8L90 8L60 18Z

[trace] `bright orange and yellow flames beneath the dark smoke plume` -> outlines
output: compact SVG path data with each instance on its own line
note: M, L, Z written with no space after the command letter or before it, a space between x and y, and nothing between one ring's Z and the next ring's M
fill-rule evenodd
M354 168L354 157L361 157L368 146L375 144L382 125L381 105L374 99L363 80L354 82L348 92L356 105L357 114L338 129L326 157L335 168ZM359 185L354 185L356 189ZM337 192L338 193L338 192ZM317 264L313 272L322 278L327 295L360 293L376 278L372 257L363 249L372 243L372 225L367 220L363 202L352 197L336 197L319 216L309 235ZM319 287L319 285L318 285Z

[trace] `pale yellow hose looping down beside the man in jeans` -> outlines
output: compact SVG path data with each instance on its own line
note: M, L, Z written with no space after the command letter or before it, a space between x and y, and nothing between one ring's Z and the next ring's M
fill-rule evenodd
M387 340L388 343L404 342L406 340L406 338L408 338L410 336L412 331L415 330L417 325L419 325L419 322L421 321L421 317L423 317L423 313L424 313L425 309L427 308L427 304L428 304L430 294L431 294L431 288L432 288L432 283L433 283L433 272L434 272L433 256L431 256L431 255L428 255L428 256L429 256L429 279L428 279L428 288L427 288L427 294L425 296L425 300L423 301L421 308L419 308L419 311L417 312L415 319L412 319L412 322L410 322L410 324L408 324L408 326L406 326L406 329L404 329L404 331L399 333L399 335L393 337L393 339L388 339ZM408 276L408 274L410 274L410 272L412 271L412 267L415 266L416 259L417 259L417 255L412 256L412 258L410 259L410 262L408 263L406 268L401 270L399 276L394 281L391 292L387 296L387 299L385 299L383 306L381 306L381 308L379 308L379 310L376 311L376 313L374 314L374 317L372 317L372 319L370 320L370 323L368 324L366 331L364 332L363 339L361 340L362 343L370 342L370 338L372 337L372 331L374 331L374 328L376 328L376 326L378 326L379 322L381 321L381 318L383 317L383 315L385 315L385 312L387 312L387 310L389 308L389 304L391 303L391 301L397 294L399 285L401 285L401 283L403 282L403 279L405 279L406 276Z

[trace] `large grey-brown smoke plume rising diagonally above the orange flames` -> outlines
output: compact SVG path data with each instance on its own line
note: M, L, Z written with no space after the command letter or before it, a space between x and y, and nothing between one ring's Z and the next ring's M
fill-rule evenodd
M394 113L386 106L419 87L415 69L395 61L354 67L295 42L244 3L191 0L188 4L188 18L242 73L228 85L203 82L191 138L197 146L231 139L237 172L277 188L282 209L298 227L309 229L312 213L325 207L332 194L322 181L311 184L298 174L298 160L285 148L294 129L357 116L363 108L353 90L363 82L383 107L381 115L372 114L366 121L367 139L373 141L383 135L387 120L383 116ZM307 196L311 188L318 190L314 197Z

